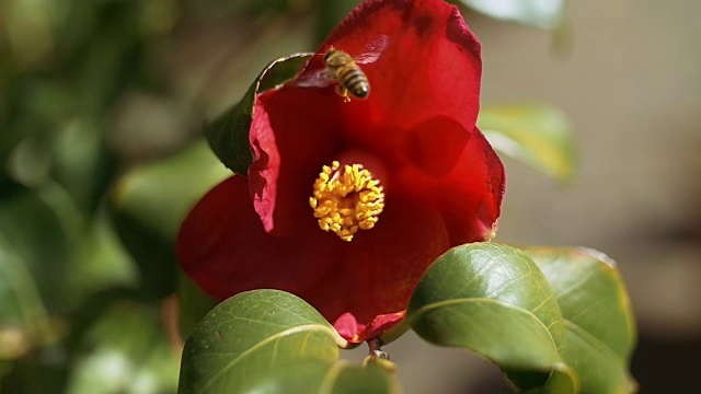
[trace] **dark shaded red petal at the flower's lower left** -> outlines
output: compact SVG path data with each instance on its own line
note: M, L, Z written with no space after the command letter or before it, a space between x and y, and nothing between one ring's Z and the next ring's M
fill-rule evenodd
M177 235L177 256L183 270L219 300L262 288L299 294L331 268L324 256L333 250L320 242L329 234L315 224L304 230L303 239L268 235L253 210L246 179L233 176L189 212Z

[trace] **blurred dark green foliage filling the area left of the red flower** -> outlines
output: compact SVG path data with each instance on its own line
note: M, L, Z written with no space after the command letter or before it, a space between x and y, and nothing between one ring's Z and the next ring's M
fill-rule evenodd
M0 392L175 391L200 126L358 2L0 0Z

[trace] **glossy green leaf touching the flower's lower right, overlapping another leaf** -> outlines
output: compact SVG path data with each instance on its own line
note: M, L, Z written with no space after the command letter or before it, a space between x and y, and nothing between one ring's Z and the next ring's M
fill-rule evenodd
M516 248L474 243L448 251L418 283L406 315L424 339L485 356L521 390L577 385L559 352L565 332L550 286Z

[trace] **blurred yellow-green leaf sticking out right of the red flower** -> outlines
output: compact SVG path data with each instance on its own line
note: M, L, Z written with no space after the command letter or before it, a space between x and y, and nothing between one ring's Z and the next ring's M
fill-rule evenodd
M544 104L484 105L478 126L497 151L561 182L572 179L574 135L556 108Z

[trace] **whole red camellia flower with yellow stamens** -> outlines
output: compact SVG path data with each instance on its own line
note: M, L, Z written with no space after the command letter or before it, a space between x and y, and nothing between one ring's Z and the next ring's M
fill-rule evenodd
M367 77L365 100L320 82L331 48L359 56L342 66ZM183 269L220 300L292 292L353 343L389 329L436 257L494 234L505 181L475 127L481 68L453 5L364 2L296 79L256 96L249 177L185 219Z

